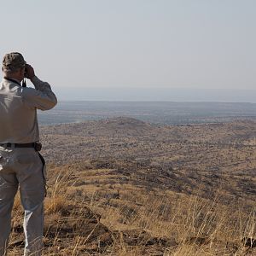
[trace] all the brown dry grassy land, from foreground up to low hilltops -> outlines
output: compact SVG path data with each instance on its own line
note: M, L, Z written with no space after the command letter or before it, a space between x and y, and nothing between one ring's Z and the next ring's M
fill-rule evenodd
M43 128L44 255L256 255L256 123ZM21 255L15 201L10 255Z

